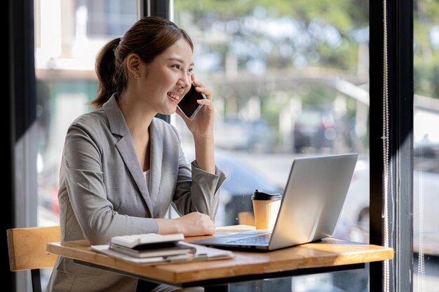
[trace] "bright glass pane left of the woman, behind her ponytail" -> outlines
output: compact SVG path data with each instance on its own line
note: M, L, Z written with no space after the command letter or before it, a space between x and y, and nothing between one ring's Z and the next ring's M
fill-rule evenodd
M90 111L95 56L137 20L137 1L35 1L38 225L59 225L58 173L67 127ZM43 271L43 290L50 274Z

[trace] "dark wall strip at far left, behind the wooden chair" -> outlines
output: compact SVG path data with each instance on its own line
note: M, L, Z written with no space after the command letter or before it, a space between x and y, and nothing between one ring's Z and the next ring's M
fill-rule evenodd
M6 230L36 226L36 145L32 130L36 120L34 67L34 1L8 0L3 20L6 20L6 57L1 68L6 76L7 98L1 111L6 117L8 155L3 159L6 169L4 205L4 240L2 244L3 274L6 291L28 291L29 272L10 272ZM35 127L34 127L35 128Z

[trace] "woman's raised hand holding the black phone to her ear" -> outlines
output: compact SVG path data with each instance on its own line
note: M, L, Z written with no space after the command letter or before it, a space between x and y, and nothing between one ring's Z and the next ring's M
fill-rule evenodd
M205 99L198 99L198 104L203 104L200 111L193 117L187 118L184 113L177 109L177 114L182 117L184 123L194 135L194 138L212 138L213 136L213 119L214 109L212 104L212 92L204 87L202 83L195 80L194 74L191 75L191 80L196 86L196 91L205 95ZM184 98L184 97L183 97Z

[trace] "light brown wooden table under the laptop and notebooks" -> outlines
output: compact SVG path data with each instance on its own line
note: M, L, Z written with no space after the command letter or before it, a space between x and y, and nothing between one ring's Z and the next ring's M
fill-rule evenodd
M202 238L205 237L186 240ZM237 281L364 268L365 263L393 258L391 248L329 238L277 251L234 251L236 257L227 260L160 265L128 263L112 258L91 250L85 240L50 243L47 251L73 258L76 263L147 281L181 287L205 286L205 291L228 291L229 283Z

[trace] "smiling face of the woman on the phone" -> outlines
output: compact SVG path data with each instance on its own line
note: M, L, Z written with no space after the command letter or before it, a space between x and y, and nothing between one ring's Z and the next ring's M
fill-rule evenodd
M178 102L191 87L193 67L191 46L184 38L150 64L142 64L140 96L146 98L148 109L166 115L175 113Z

